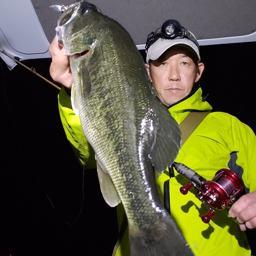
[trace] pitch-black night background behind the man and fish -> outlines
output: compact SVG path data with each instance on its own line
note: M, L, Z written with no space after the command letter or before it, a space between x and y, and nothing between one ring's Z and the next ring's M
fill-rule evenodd
M255 132L256 42L203 46L201 58L200 85L214 111L237 116ZM96 170L83 172L74 157L59 118L59 91L0 61L0 255L111 255L115 208L104 202ZM23 63L51 80L51 59Z

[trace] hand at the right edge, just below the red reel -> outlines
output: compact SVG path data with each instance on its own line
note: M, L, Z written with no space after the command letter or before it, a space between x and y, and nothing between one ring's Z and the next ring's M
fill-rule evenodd
M256 228L256 191L248 193L234 203L229 212L229 216L236 218L240 229Z

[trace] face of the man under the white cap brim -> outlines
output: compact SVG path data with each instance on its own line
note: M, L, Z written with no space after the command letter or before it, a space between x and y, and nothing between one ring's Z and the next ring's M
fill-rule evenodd
M151 66L146 65L158 98L165 106L186 97L204 69L203 63L196 67L187 48L174 46L165 51Z

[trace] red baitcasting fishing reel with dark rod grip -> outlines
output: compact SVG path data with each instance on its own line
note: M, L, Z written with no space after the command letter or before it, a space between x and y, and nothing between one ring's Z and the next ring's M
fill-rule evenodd
M212 180L206 180L194 170L182 163L173 164L177 172L185 176L189 182L180 188L183 195L194 187L199 200L209 206L207 214L201 217L204 223L209 223L215 216L215 210L222 210L230 206L235 197L243 190L242 180L229 169L220 169Z

